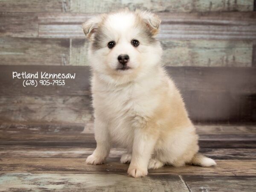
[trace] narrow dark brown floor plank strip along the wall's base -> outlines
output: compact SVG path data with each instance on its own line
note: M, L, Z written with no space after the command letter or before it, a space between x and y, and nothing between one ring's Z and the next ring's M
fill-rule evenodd
M206 134L256 134L254 125L195 125L199 135ZM94 133L93 119L84 123L51 123L51 122L0 122L0 133L12 134L80 134Z

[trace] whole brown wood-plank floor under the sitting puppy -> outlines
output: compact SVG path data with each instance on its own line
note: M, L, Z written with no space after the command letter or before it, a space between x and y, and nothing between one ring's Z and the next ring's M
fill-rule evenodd
M0 124L0 191L256 191L256 126L198 125L201 152L217 166L165 166L129 177L113 148L106 164L85 165L93 134L72 125Z

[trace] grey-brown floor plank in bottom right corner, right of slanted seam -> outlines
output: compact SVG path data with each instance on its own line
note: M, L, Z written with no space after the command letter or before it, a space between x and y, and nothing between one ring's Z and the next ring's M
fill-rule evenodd
M256 190L255 176L184 175L182 178L190 191L252 192Z

